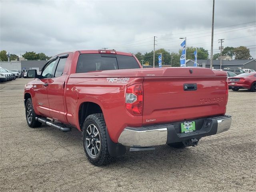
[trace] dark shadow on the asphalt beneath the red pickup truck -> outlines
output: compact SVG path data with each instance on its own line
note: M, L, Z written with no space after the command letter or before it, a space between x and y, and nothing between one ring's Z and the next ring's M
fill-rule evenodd
M71 132L60 132L49 126L43 125L40 131L50 132L49 136L54 140L58 140L61 146L70 146L79 148L79 156L84 158L82 161L88 162L84 155L82 147L81 132L72 128ZM50 129L50 130L49 130ZM46 134L46 133L44 133ZM184 166L205 166L212 163L208 154L209 152L200 146L188 147L182 149L172 148L168 145L156 146L156 150L130 152L126 149L126 154L116 158L112 164L102 166L102 169L117 170L119 168L127 168L136 171L154 171L157 169L181 168ZM89 164L93 166L92 164Z

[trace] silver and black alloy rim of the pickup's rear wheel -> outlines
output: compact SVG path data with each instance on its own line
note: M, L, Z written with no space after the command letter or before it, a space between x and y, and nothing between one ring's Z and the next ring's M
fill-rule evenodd
M94 124L90 124L86 129L86 148L90 155L97 156L100 152L100 133Z

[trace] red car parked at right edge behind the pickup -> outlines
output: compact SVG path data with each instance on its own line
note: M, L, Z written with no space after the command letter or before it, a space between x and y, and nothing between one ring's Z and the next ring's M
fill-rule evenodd
M256 92L256 72L242 73L228 78L228 87L233 91L238 91L239 89L249 89L252 92Z

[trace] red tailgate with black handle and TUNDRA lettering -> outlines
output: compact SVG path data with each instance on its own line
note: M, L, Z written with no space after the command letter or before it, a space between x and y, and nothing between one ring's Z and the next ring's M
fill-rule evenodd
M226 112L225 74L145 77L143 91L143 124L193 120Z

